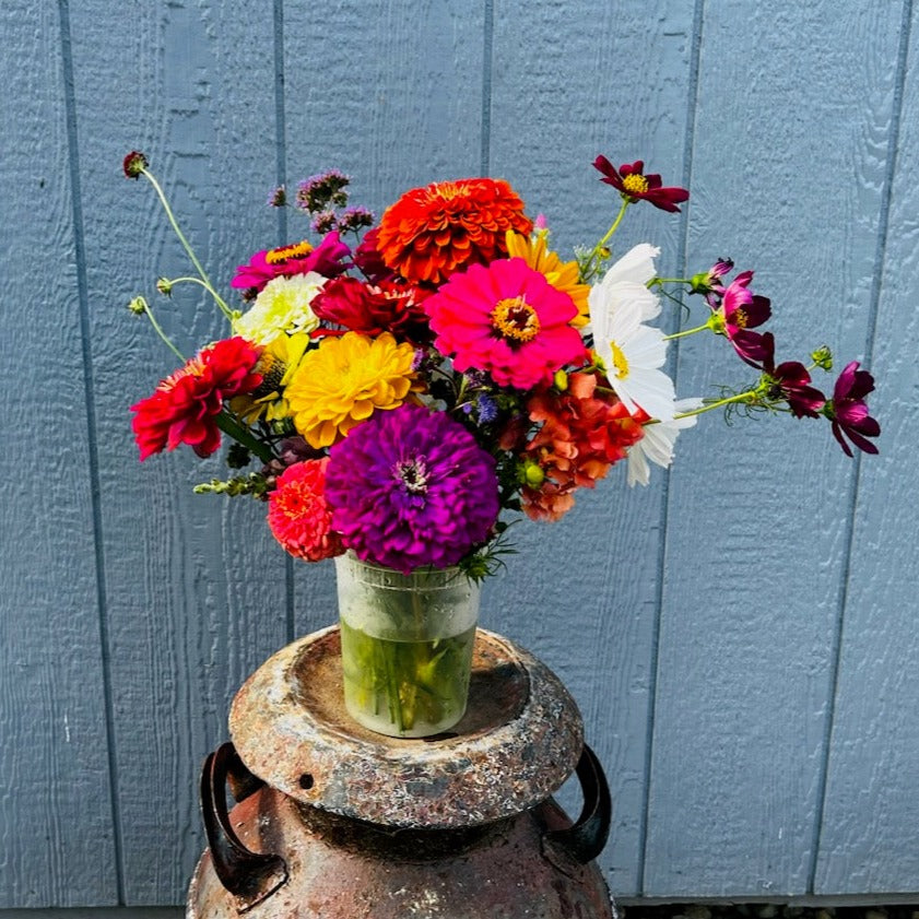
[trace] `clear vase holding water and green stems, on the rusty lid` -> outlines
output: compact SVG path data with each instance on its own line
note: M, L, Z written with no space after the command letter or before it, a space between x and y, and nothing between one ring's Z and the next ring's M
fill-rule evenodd
M422 738L466 711L480 586L459 568L403 575L335 558L344 702L358 723Z

